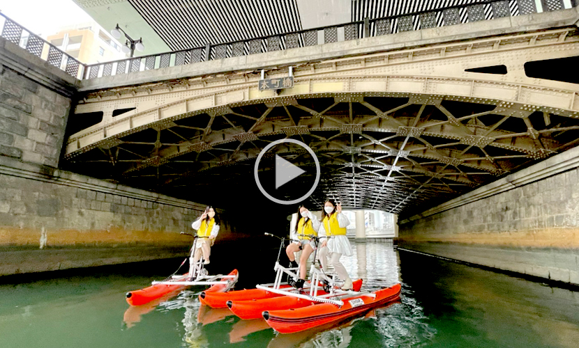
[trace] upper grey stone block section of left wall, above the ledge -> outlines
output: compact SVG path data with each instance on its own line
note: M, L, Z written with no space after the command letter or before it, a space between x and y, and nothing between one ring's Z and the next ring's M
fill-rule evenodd
M62 74L0 38L0 156L58 166L75 89Z

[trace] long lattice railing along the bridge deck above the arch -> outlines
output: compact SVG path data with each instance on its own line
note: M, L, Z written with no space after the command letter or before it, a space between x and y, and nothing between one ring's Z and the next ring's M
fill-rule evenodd
M543 12L564 9L563 0L541 0ZM573 2L572 6L576 6ZM495 18L537 13L535 0L476 1L466 5L428 10L418 13L366 19L358 22L324 26L315 29L293 31L261 38L206 45L176 52L165 52L128 58L121 61L87 65L84 79L128 74L203 61L246 56L320 45L329 42L357 40L379 35L391 35L405 31L451 26L468 22L479 22ZM111 65L112 64L112 65Z

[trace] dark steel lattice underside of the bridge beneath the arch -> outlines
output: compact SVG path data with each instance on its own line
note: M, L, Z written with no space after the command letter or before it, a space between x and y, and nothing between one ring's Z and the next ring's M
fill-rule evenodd
M201 177L248 180L243 175L253 170L262 148L293 138L313 148L322 164L313 204L336 196L347 207L400 213L453 198L573 146L579 121L573 112L552 111L410 93L278 97L182 113L66 159L77 171L179 196L180 187L202 191L196 184L204 182ZM292 144L278 153L312 165Z

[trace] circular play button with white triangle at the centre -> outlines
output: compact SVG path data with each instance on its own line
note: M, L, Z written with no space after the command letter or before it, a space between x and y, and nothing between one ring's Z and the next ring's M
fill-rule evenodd
M281 143L294 143L296 145L301 146L302 148L306 149L310 153L310 155L312 155L312 158L315 161L316 173L315 173L314 184L312 185L310 190L306 194L301 196L300 198L296 198L296 199L292 199L292 200L282 200L282 199L273 197L271 194L269 194L264 189L264 187L262 186L262 184L260 182L260 177L259 177L259 175L257 175L258 167L260 165L260 160L262 159L262 157L264 157L265 153L268 152L269 150L271 150L271 148L273 148L274 146L279 145ZM275 176L276 176L275 189L276 190L279 189L280 187L283 187L283 185L287 184L288 182L291 182L292 180L296 179L296 177L299 177L303 173L306 173L306 171L304 171L302 168L299 168L299 166L292 164L292 162L287 161L287 159L284 159L283 157L281 157L279 155L276 155L275 166L276 166L276 168L275 168ZM317 160L317 157L316 157L314 151L312 149L310 149L310 147L308 145L302 143L301 141L297 141L295 139L280 139L277 141L273 141L273 143L270 143L269 145L267 145L262 150L262 152L260 152L260 155L258 155L257 159L255 160L255 166L253 168L253 173L255 175L255 183L257 184L257 187L260 188L260 191L262 191L264 196L266 196L270 200L273 200L273 202L276 202L279 204L285 204L285 205L296 204L296 203L299 203L302 200L308 198L308 196L310 196L313 193L313 191L315 190L315 188L317 187L317 184L319 182L319 161Z

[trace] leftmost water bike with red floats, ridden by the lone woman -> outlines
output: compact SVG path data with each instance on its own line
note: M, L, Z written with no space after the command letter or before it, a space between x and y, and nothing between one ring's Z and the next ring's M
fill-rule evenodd
M195 248L197 246L197 239L200 238L207 238L207 237L199 237L197 235L189 235L188 233L181 232L181 235L188 235L193 237L193 246L191 247L190 257L189 257L189 271L186 274L176 275L179 272L179 269L183 267L183 264L187 261L187 259L181 262L179 268L174 271L174 273L165 278L165 280L160 281L153 281L151 286L145 287L141 290L134 290L131 292L127 292L126 294L126 301L131 306L141 306L145 303L149 303L155 299L159 299L160 297L165 296L169 293L178 294L179 291L185 289L188 286L195 286L195 285L211 285L209 289L205 290L204 292L212 293L212 292L226 292L230 290L237 279L239 278L239 272L234 269L230 272L230 274L223 275L218 274L216 276L211 276L207 274L206 269L204 268L203 258L195 261Z

